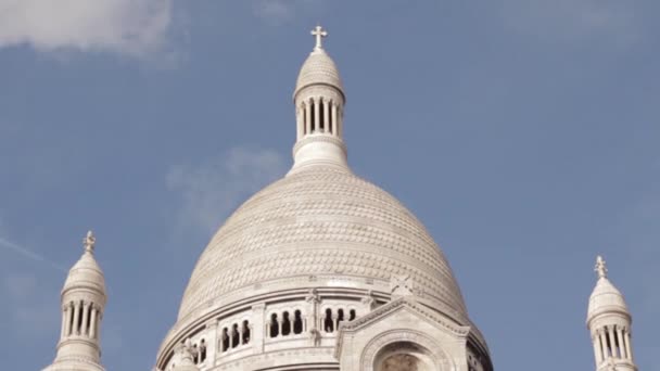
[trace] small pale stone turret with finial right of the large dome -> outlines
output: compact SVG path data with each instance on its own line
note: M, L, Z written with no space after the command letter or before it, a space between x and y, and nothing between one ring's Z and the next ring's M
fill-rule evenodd
M589 297L586 324L592 334L596 371L636 371L631 335L632 316L621 292L607 278L601 256L596 258L598 276Z

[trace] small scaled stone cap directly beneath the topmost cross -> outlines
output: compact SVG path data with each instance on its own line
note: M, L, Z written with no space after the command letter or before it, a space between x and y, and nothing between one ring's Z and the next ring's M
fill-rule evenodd
M297 75L295 92L297 93L304 87L316 84L330 85L343 91L337 64L323 49L315 49L309 53Z

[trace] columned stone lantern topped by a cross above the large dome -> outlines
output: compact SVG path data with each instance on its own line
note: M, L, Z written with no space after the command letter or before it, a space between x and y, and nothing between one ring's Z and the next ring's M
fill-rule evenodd
M318 164L347 169L344 89L337 65L323 48L328 31L317 26L312 35L316 44L301 68L293 93L297 130L292 172Z

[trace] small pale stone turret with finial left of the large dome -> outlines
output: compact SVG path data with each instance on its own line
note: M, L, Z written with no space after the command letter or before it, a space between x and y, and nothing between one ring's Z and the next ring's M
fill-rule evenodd
M102 371L100 329L105 308L105 280L93 257L96 238L82 240L85 252L62 289L62 330L58 354L45 371Z

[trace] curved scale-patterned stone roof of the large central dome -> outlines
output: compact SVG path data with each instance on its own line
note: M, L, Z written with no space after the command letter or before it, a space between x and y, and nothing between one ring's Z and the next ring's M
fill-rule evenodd
M317 165L266 187L227 219L192 272L179 320L237 289L312 274L381 282L409 274L439 309L467 318L452 270L417 218L348 169Z

